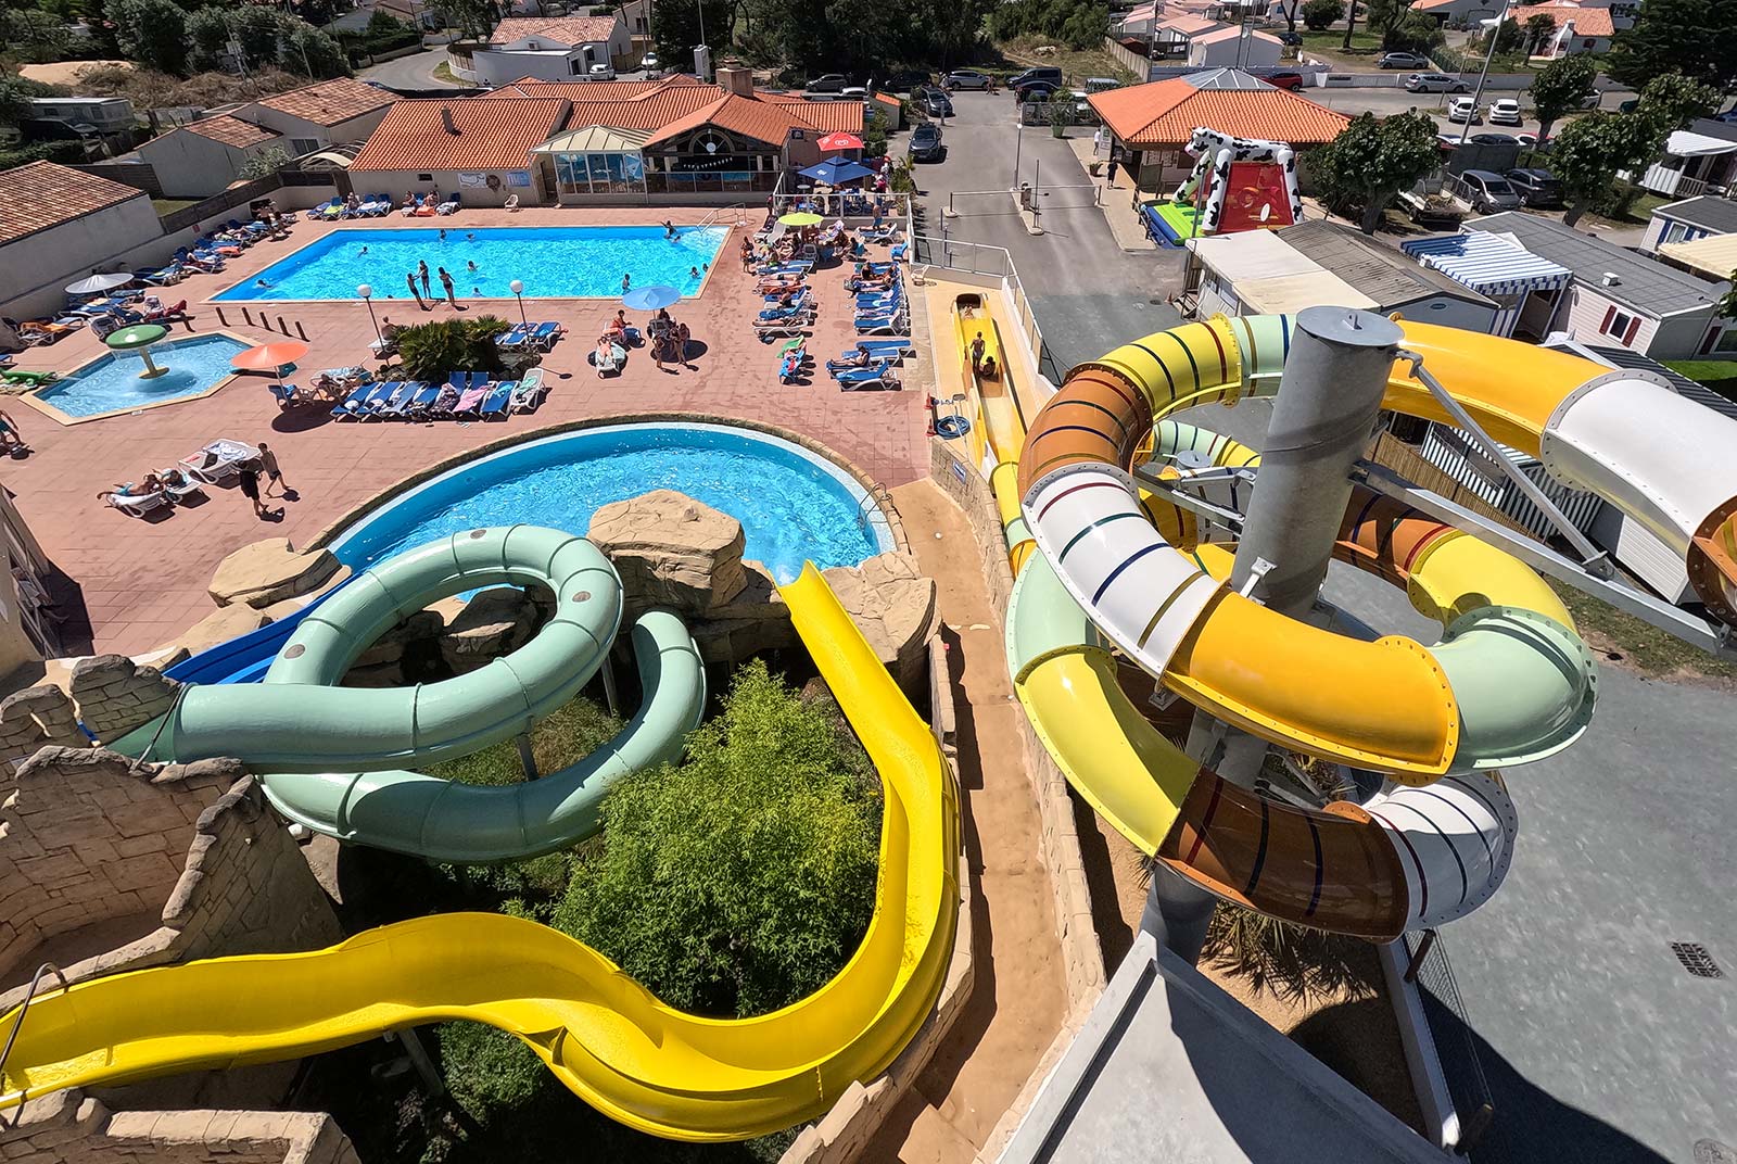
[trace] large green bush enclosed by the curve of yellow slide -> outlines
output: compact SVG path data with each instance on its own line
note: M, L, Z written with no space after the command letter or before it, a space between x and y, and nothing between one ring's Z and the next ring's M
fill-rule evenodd
M750 1016L820 989L874 907L879 782L830 700L736 672L688 761L618 784L554 926L670 1006Z

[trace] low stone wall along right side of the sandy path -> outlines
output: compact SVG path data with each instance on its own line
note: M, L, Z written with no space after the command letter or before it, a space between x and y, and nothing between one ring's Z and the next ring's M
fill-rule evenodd
M1006 625L1007 603L1013 598L1013 570L1007 566L1007 542L1001 532L1001 509L988 483L961 462L941 440L929 441L929 476L941 486L971 521L971 533L981 551L983 579L988 584L990 605ZM1068 1006L1079 1009L1103 992L1103 949L1098 945L1098 928L1091 916L1091 890L1086 883L1086 860L1080 855L1079 830L1073 823L1073 799L1067 777L1049 757L1030 721L1020 716L1020 737L1025 747L1025 771L1037 797L1042 822L1042 856L1049 869L1051 890L1056 900L1056 928L1061 938L1067 969Z

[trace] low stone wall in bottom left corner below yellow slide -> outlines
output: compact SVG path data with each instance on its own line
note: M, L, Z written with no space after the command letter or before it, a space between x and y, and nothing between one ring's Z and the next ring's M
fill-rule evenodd
M31 1100L0 1141L5 1164L361 1164L321 1112L109 1112L61 1091Z

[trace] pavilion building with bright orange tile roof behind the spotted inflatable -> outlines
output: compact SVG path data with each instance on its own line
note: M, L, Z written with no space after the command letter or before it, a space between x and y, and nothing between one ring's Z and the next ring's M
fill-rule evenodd
M1284 141L1303 155L1350 123L1343 113L1237 69L1110 89L1087 101L1112 137L1112 160L1141 191L1166 195L1193 169L1183 146L1197 129Z

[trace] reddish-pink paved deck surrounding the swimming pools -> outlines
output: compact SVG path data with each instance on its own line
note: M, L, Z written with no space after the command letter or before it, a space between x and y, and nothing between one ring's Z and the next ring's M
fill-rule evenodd
M749 215L756 226L759 214L750 210ZM703 207L530 208L464 210L446 219L393 215L363 222L370 228L445 226L462 231L488 226L631 226L664 217L695 224L705 215ZM250 278L332 229L340 228L304 219L290 238L259 243L229 259L224 271L196 274L158 295L170 304L182 297L189 301L195 334L226 328L255 342L281 339L274 330L250 327L241 318L241 308L248 304L208 304L205 297ZM740 245L742 229L733 228L702 294L670 308L693 330L695 370L660 374L648 351L639 347L629 354L620 377L598 379L585 365L585 354L620 304L526 299L532 320L559 320L570 328L568 337L544 358L552 387L532 415L486 424L335 422L323 408L280 412L266 391L267 380L254 375L233 380L212 396L78 426L57 424L17 401L7 401L7 412L21 424L35 453L5 462L3 485L43 551L82 589L94 650L142 653L215 610L207 585L217 563L231 551L264 537L288 537L301 546L334 518L419 469L547 424L624 412L705 412L796 429L830 445L888 486L924 476L922 391L841 393L823 367L808 384L778 384L778 346L761 344L752 334L750 320L759 299L736 261ZM886 257L886 248L870 247L870 257ZM382 271L377 285L384 294L386 287L401 280L401 271ZM842 287L842 268L820 271L813 283L820 320L809 332L808 347L823 361L855 339L851 301ZM460 299L460 304L469 308L471 316L486 311L504 320L518 318L512 301ZM226 321L219 320L219 308ZM271 302L266 308L273 323L278 316L288 323L292 339L297 337L297 323L306 328L311 351L301 361L302 379L320 368L370 363L373 327L360 301ZM257 320L259 311L248 309ZM396 323L417 323L450 318L453 309L441 302L434 311L420 313L408 301L377 297L375 313L382 318L389 314ZM643 325L644 316L643 311L629 313L636 325ZM174 332L188 334L184 325L175 325ZM102 344L82 330L52 347L19 353L14 367L69 370L102 351ZM287 481L297 490L297 500L271 502L283 509L280 521L255 518L234 488L208 488L205 504L175 509L155 521L129 518L96 500L99 490L167 467L219 436L254 445L264 440L278 453Z

